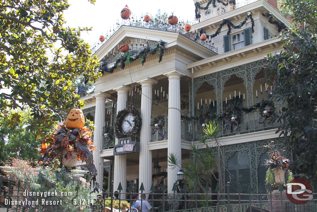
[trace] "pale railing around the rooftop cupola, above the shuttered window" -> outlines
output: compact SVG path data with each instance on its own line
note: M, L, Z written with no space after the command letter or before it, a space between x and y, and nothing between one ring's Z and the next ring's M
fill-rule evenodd
M238 2L236 1L237 3L235 5L233 4L229 4L228 6L224 6L224 5L219 5L218 7L216 8L211 8L211 6L208 8L210 9L210 13L208 13L207 15L204 15L204 13L206 12L206 10L203 10L201 11L201 14L202 14L202 17L199 18L199 19L196 19L196 20L193 20L191 22L189 22L189 24L193 25L193 24L197 24L199 22L202 22L202 21L205 21L205 20L208 20L210 18L213 18L213 17L217 17L217 16L220 16L226 12L229 12L231 10L235 10L235 9L238 9L240 7L243 7L245 5L248 5L250 3L253 3L253 2L256 2L256 1L259 1L259 0L246 0L246 1L243 1L243 2Z

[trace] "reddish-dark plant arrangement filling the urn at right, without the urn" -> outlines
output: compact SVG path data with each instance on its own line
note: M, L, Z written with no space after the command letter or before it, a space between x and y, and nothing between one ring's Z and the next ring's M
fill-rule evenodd
M286 157L283 157L282 154L285 152L285 149L278 149L274 145L274 141L271 141L268 145L264 146L269 148L268 156L269 160L265 159L265 165L266 167L269 167L271 169L283 169L287 170L289 167L289 160Z

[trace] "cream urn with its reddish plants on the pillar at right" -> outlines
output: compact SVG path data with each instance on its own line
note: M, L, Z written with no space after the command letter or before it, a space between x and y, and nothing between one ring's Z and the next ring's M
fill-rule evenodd
M266 167L270 168L275 175L275 182L278 184L285 183L285 172L288 170L289 167L289 160L282 156L285 152L285 149L278 149L274 145L274 141L271 141L270 144L264 146L269 148L268 156L269 159L265 160Z

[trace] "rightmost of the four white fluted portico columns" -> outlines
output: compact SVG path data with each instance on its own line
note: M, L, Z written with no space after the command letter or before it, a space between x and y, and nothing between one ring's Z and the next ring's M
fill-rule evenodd
M168 143L167 155L174 154L179 160L182 158L181 129L180 129L180 71L163 73L168 77ZM179 164L181 165L181 164ZM172 193L174 182L177 180L178 168L167 168L167 192Z

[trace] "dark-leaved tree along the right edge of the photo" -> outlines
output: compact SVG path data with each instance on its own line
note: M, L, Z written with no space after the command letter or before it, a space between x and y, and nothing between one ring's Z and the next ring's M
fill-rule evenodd
M317 2L290 0L282 6L293 9L294 25L281 34L284 50L268 55L266 68L273 85L273 100L283 108L272 119L281 122L276 133L289 136L295 171L305 172L317 185ZM270 78L269 78L270 77Z

